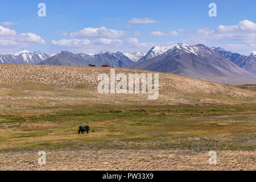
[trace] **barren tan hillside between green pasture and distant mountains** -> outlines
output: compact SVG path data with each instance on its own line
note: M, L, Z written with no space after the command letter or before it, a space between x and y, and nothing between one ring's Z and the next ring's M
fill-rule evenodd
M229 85L217 84L195 78L159 73L159 99L148 101L145 94L98 94L97 77L100 73L109 75L111 68L67 67L51 65L0 64L0 98L93 100L105 104L200 104L254 102L256 92ZM117 73L156 73L137 69L114 68ZM50 86L52 89L44 89ZM68 92L70 94L62 94ZM8 92L20 92L11 97ZM73 94L72 94L73 92ZM89 97L82 94L89 94Z

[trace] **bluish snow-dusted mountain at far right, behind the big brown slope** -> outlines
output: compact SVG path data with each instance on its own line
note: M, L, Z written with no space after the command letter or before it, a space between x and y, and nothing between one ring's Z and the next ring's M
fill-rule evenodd
M234 64L238 65L238 67L241 67L249 72L256 73L256 51L253 51L250 53L250 55L240 55L239 53L233 53L231 51L225 51L223 48L216 48L213 47L214 51L220 53L222 56L224 56L226 59L229 59Z

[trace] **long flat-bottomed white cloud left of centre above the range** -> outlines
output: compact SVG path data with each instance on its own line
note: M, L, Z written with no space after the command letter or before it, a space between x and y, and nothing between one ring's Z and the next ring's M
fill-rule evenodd
M78 32L72 32L71 36L73 38L109 38L118 39L126 35L126 31L118 31L113 29L108 29L106 27L100 28L84 28Z

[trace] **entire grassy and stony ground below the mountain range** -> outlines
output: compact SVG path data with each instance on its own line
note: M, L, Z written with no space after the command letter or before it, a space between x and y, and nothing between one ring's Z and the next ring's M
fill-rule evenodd
M109 72L0 64L0 169L256 169L256 92L159 73L158 100L98 94L97 76ZM97 132L77 135L88 123ZM39 150L46 166L37 162Z

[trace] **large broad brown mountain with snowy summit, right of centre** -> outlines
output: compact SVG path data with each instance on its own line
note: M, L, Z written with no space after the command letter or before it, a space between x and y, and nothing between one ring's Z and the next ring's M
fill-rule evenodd
M213 48L203 44L188 46L183 43L170 47L157 47L156 50L162 52L158 56L153 54L156 52L155 47L151 48L146 55L152 56L151 59L145 59L144 56L130 68L173 73L223 84L256 83L254 73L238 67Z

